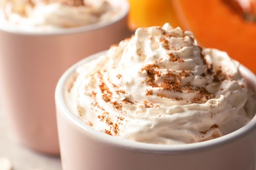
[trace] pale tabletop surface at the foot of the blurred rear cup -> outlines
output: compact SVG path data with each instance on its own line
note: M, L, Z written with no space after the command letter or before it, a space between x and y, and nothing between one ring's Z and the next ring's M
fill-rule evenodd
M59 157L40 154L18 142L0 108L0 160L11 162L12 170L60 170ZM1 163L1 161L0 161ZM3 162L2 162L3 163ZM0 165L1 167L1 165ZM2 169L1 169L2 170Z

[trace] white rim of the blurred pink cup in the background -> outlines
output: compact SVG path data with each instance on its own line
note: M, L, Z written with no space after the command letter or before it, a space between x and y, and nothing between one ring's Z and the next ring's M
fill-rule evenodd
M128 16L130 6L127 0L121 0L121 1L111 0L111 1L114 1L113 3L118 2L123 9L120 10L119 14L117 14L107 22L96 22L95 24L89 24L89 25L84 25L80 27L71 27L68 29L56 29L52 31L24 31L23 29L22 30L9 29L9 27L8 28L0 27L0 31L5 31L7 33L14 33L19 35L33 35L33 36L35 35L66 35L66 34L72 34L72 33L94 31L96 29L101 29L103 27L108 27L109 25L115 24Z

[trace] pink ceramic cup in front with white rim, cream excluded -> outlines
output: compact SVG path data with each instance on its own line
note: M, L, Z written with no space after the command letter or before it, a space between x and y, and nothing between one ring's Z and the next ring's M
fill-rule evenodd
M72 86L75 69L100 54L73 65L56 86L58 134L64 170L256 169L256 116L244 127L223 137L181 145L127 141L100 133L83 123L68 109L64 90ZM256 92L255 75L244 66L240 67L240 71Z

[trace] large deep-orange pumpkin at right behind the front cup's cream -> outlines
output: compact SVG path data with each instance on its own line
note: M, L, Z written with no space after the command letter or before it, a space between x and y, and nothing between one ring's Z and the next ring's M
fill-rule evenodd
M256 73L256 22L242 17L242 7L228 0L172 2L181 27L193 31L202 46L224 50Z

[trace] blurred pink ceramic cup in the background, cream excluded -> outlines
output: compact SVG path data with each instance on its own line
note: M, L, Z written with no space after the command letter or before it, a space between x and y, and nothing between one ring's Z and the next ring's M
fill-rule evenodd
M0 94L11 127L25 145L59 154L54 89L58 78L85 56L129 36L125 0L111 0L121 12L110 22L28 33L0 28Z

